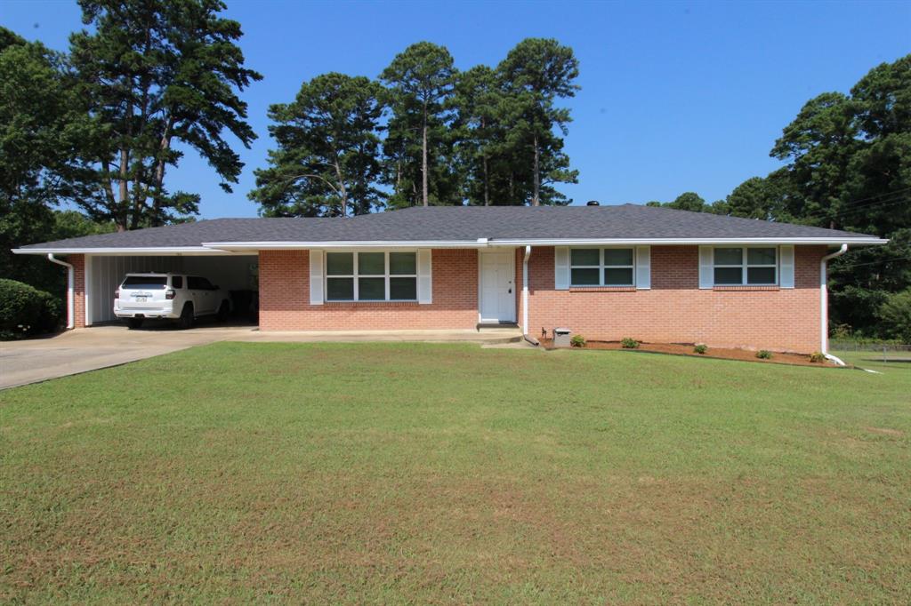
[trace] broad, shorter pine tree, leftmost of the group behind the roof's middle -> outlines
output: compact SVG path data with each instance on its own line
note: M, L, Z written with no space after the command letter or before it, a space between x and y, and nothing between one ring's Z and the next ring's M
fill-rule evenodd
M377 136L382 87L331 73L304 82L290 104L269 108L278 148L255 171L250 197L268 217L362 215L382 206Z

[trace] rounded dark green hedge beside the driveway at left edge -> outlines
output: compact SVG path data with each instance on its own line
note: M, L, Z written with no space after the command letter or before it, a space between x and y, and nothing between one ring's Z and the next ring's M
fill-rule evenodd
M0 339L26 338L55 331L59 299L22 282L0 278Z

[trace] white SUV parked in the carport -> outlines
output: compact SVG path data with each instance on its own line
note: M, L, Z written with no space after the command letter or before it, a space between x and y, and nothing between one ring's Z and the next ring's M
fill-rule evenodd
M200 316L224 320L229 314L228 293L199 276L127 274L114 291L114 315L129 328L139 328L146 318L177 319L180 328L190 328Z

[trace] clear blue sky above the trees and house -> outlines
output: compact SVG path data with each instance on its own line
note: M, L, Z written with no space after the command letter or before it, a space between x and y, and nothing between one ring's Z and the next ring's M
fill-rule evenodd
M419 40L445 45L460 69L496 65L528 36L555 37L580 63L566 150L576 204L725 197L779 163L777 136L811 97L844 91L873 66L911 52L909 2L564 3L247 2L247 65L264 79L243 93L260 136L243 150L233 194L192 152L170 189L202 196L202 217L252 217L252 171L271 139L266 109L324 72L377 76ZM0 24L57 49L81 26L76 2L0 0ZM240 144L238 144L240 146ZM242 147L241 147L242 148Z

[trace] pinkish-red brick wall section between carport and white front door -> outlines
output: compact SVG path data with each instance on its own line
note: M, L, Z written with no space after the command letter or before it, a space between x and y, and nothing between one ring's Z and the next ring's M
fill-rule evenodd
M435 249L433 303L310 305L306 250L260 251L262 330L405 330L475 328L477 251Z

